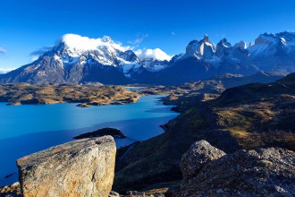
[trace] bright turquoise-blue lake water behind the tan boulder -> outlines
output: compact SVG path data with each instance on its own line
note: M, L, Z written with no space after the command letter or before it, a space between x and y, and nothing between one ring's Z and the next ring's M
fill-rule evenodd
M17 181L15 161L81 133L104 127L119 129L128 138L116 139L117 148L163 133L159 127L178 114L145 96L135 104L81 108L76 104L7 106L0 103L0 186ZM163 96L162 96L163 97ZM14 174L8 178L4 176Z

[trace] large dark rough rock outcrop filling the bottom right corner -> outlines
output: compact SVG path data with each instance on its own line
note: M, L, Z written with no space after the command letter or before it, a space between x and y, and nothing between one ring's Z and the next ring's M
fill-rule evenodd
M203 146L204 150L207 150L206 142L202 143L206 145ZM187 168L181 170L186 172ZM240 150L208 162L196 176L183 179L181 190L173 195L294 196L294 183L293 151L280 148Z

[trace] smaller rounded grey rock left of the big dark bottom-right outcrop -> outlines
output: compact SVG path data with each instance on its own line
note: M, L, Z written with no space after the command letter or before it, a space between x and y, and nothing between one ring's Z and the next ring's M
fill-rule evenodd
M207 141L196 141L190 146L190 150L181 158L181 172L184 178L196 176L208 162L225 155L223 150L218 150Z

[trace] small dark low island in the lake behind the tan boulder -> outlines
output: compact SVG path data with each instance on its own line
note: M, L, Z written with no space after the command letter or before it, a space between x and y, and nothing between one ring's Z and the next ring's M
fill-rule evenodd
M80 134L78 136L73 137L73 139L79 140L83 138L96 138L96 137L102 137L104 135L111 135L114 138L126 138L126 136L118 129L103 128L103 129L98 129L95 132Z

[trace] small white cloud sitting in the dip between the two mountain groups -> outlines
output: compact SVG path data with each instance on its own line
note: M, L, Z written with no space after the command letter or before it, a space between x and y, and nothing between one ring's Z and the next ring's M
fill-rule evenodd
M167 55L163 50L160 48L155 49L144 49L144 50L137 50L134 52L139 59L146 59L146 58L154 58L157 60L171 60L172 56Z

